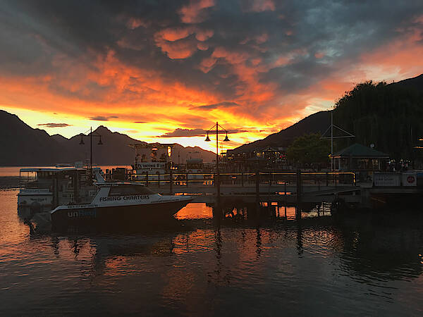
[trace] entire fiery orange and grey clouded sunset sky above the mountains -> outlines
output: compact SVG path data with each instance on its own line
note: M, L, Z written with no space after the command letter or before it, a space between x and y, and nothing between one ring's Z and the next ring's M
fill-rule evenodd
M423 73L423 1L0 1L0 108L71 137L237 147ZM214 137L212 137L214 139Z

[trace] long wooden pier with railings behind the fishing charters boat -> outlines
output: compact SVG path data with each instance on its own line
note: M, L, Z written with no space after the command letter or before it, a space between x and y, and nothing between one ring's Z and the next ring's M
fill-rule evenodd
M215 182L219 179L219 182ZM145 175L139 182L161 194L189 194L194 202L215 204L216 201L298 205L302 203L333 203L369 207L372 194L416 194L418 187L374 187L357 183L349 172L296 173L169 173ZM220 193L219 195L217 193Z

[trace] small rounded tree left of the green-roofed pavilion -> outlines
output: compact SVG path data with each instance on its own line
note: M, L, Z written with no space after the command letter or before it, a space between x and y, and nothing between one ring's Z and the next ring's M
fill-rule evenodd
M302 135L286 150L288 159L295 163L327 163L331 146L327 139L321 139L319 134Z

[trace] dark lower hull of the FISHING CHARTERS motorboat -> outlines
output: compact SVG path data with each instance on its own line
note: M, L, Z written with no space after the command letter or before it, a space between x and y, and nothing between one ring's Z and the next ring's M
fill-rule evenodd
M171 218L192 199L131 206L85 207L59 209L51 213L54 226L76 224L125 224L159 218Z

